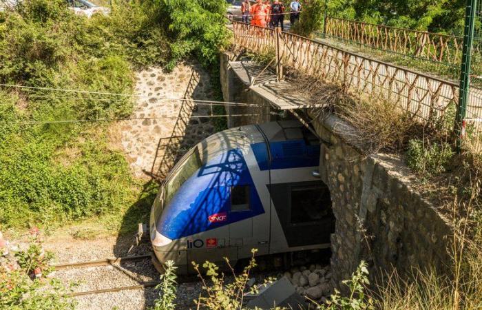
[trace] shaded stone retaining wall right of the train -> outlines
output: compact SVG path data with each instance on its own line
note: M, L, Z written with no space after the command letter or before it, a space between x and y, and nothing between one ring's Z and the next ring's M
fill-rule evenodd
M412 268L446 269L452 234L449 223L410 188L412 175L397 156L364 156L334 130L335 116L314 121L322 144L319 172L328 185L336 230L331 238L335 285L350 278L361 260L370 275L392 268L404 276Z

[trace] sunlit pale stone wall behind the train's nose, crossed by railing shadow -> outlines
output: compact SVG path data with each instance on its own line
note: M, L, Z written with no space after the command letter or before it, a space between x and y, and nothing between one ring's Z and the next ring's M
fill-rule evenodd
M163 178L179 156L214 132L213 118L200 117L211 114L209 105L189 100L214 99L211 76L195 62L172 72L149 68L136 74L135 92L134 119L114 125L112 140L136 177Z

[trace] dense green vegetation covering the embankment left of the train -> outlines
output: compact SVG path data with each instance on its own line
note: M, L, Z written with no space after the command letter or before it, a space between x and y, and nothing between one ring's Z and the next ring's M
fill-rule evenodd
M96 216L129 231L145 220L156 186L132 178L112 122L96 120L129 116L137 68L215 62L228 39L224 1L112 1L111 10L88 19L64 0L25 0L0 12L0 83L122 94L0 89L0 229Z

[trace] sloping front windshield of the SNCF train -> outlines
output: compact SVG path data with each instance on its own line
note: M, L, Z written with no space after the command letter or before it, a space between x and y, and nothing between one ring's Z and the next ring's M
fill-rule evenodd
M191 152L182 158L180 165L178 165L178 169L176 169L176 171L174 171L169 177L169 180L167 180L164 187L166 205L169 203L172 196L176 194L179 187L181 187L181 185L184 184L201 166L202 161L199 155L199 148L196 146L191 149Z

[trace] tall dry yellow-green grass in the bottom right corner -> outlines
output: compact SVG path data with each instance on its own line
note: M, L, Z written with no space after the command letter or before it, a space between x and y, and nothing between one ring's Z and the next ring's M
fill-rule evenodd
M384 310L479 310L482 309L482 218L479 199L480 179L474 177L472 192L466 200L454 199L454 236L451 246L452 272L414 272L410 280L392 273L380 285L379 309ZM459 211L465 216L460 218ZM475 216L474 216L475 215Z

